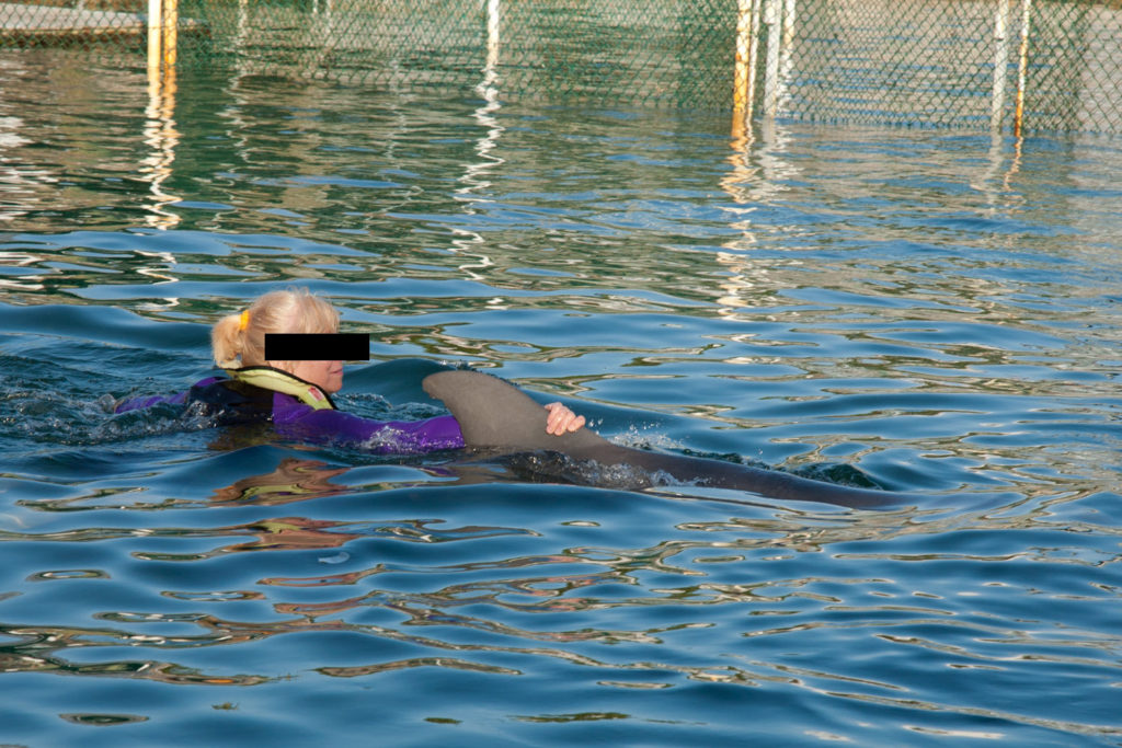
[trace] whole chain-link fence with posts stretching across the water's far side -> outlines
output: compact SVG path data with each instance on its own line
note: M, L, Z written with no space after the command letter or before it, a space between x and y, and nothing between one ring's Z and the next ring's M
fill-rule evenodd
M142 65L158 48L149 9L164 13L164 55L172 44L181 71L789 120L1122 131L1120 0L16 0L0 2L0 53L56 46Z

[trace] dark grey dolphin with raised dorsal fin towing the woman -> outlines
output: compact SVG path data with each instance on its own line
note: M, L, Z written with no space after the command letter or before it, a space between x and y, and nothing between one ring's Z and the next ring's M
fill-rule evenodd
M614 469L614 477L623 475L628 483L619 486L614 480L620 488L638 490L678 482L853 508L886 507L903 498L719 460L633 450L613 444L590 428L553 436L545 432L546 410L540 404L513 385L479 371L441 371L425 377L422 387L456 416L467 446L502 453L560 452Z

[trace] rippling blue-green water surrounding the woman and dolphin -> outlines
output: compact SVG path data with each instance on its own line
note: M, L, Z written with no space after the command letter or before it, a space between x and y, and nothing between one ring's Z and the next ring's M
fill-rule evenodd
M0 64L0 740L1119 745L1122 142ZM303 285L613 441L883 510L222 433ZM562 473L572 480L588 478ZM950 740L950 739L954 740Z

